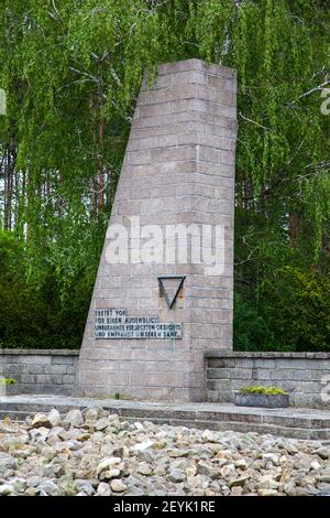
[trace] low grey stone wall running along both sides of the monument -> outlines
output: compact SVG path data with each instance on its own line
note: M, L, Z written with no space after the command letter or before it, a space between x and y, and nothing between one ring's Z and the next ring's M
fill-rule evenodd
M14 378L8 393L70 396L79 350L0 349L0 377ZM282 387L294 407L330 408L330 353L206 353L208 401L233 402L246 385ZM327 398L326 398L327 399Z

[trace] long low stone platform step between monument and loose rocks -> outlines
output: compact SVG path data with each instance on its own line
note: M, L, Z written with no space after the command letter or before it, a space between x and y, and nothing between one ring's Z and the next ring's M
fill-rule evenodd
M62 396L9 396L0 398L0 419L23 420L35 412L57 408L65 413L73 408L100 406L127 420L209 430L271 433L287 438L330 441L330 411L304 408L258 409L231 403L163 403L111 399L67 398Z

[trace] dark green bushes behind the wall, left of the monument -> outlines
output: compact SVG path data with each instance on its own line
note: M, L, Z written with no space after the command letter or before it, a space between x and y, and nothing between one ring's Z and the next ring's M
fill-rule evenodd
M79 347L95 268L77 268L65 291L52 265L37 283L29 270L24 246L0 231L0 346Z

